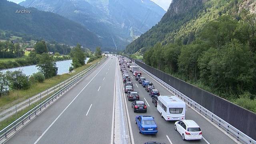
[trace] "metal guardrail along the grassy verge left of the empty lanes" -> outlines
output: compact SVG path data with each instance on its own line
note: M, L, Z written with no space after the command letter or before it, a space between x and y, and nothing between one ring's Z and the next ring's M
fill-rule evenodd
M100 62L98 62L98 63L92 65L90 68L86 69L86 72L85 72L84 75L79 76L78 78L76 78L75 80L70 82L70 84L64 86L61 90L59 90L58 92L56 92L55 94L53 94L52 96L50 96L49 98L47 98L46 100L44 100L43 102L41 102L40 104L38 104L37 106L32 108L26 114L24 114L23 116L21 116L20 118L18 118L17 120L12 122L8 126L6 126L4 129L2 129L0 131L0 141L3 140L4 138L7 139L8 134L10 134L11 132L16 131L20 126L24 126L25 123L32 120L33 116L37 116L37 114L40 114L40 112L42 112L43 109L47 108L53 102L55 102L54 100L57 100L57 97L60 97L67 90L72 88L72 86L74 86L75 84L80 82L80 80L82 80L84 77L86 77L88 74L90 74L90 72L92 72L95 68L97 68L106 59L107 59L107 57L104 58L104 60L101 60Z

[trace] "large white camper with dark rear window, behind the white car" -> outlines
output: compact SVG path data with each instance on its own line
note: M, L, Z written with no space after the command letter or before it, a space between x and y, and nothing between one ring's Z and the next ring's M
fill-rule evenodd
M158 96L157 110L165 120L184 120L186 104L176 96Z

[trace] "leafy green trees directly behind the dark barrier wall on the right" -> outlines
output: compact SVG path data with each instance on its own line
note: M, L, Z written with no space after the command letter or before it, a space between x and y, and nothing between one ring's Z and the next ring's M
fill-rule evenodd
M143 61L256 112L255 17L246 10L221 15L186 42L156 43Z

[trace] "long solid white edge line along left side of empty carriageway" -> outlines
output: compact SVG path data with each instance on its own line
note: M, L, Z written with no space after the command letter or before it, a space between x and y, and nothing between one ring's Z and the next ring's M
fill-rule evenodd
M109 62L109 60L108 60ZM106 62L106 64L108 63ZM106 64L104 66L106 66ZM102 68L104 68L104 66ZM102 68L98 71L98 73L100 73L100 71L102 70ZM98 75L95 74L95 76L90 80L90 82ZM60 113L60 115L58 115L58 117L52 122L52 124L50 124L50 126L43 132L43 134L34 142L34 144L37 144L38 141L44 136L44 134L46 134L46 132L52 127L52 125L58 120L58 118L60 118L60 116L66 111L66 109L74 102L74 100L76 100L76 98L79 96L79 94L81 94L81 92L88 86L88 84L90 84L90 82L88 82L86 84L86 86L84 86L84 88L76 95L76 97L68 104L68 106L66 106L66 108Z

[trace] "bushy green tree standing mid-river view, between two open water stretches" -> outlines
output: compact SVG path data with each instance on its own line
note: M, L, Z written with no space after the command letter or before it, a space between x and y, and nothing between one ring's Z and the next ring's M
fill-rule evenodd
M45 78L56 76L58 73L56 62L54 62L54 59L48 53L43 53L42 56L40 56L36 66L38 70L44 74Z

